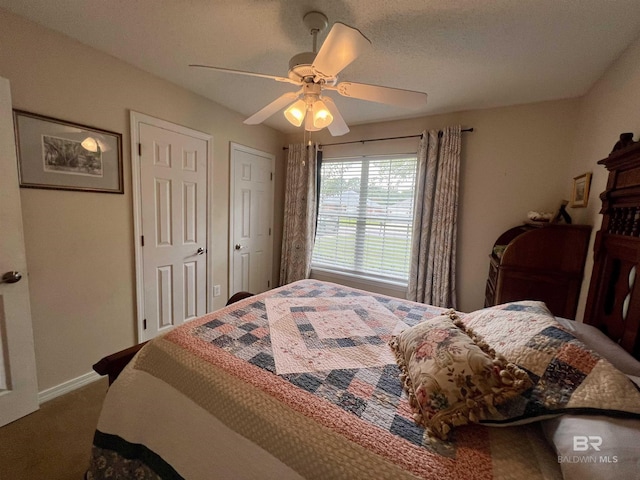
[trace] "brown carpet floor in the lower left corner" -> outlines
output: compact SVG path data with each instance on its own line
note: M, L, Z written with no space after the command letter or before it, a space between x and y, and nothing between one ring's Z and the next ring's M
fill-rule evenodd
M82 480L107 380L40 405L0 428L0 480Z

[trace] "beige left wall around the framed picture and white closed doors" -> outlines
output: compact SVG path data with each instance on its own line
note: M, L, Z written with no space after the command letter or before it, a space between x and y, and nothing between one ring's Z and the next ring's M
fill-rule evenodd
M123 134L124 195L21 190L40 391L136 341L130 110L213 136L214 308L227 298L229 142L276 155L279 258L282 134L3 10L0 46L14 108Z

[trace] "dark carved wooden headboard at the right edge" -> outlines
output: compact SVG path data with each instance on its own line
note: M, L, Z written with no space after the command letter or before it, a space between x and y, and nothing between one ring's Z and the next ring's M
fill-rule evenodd
M640 142L600 160L609 170L600 195L602 228L584 322L640 360Z

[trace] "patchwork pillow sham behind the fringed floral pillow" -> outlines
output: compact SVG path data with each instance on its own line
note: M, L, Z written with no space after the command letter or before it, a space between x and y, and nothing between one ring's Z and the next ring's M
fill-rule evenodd
M466 314L462 321L533 382L481 423L514 425L563 413L640 418L640 392L633 382L563 328L544 303L506 303Z

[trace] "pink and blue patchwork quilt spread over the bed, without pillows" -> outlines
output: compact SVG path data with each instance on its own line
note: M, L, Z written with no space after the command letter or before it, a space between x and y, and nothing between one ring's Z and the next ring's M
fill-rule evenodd
M538 425L415 424L388 342L442 312L304 280L176 328L111 386L86 478L559 478Z

